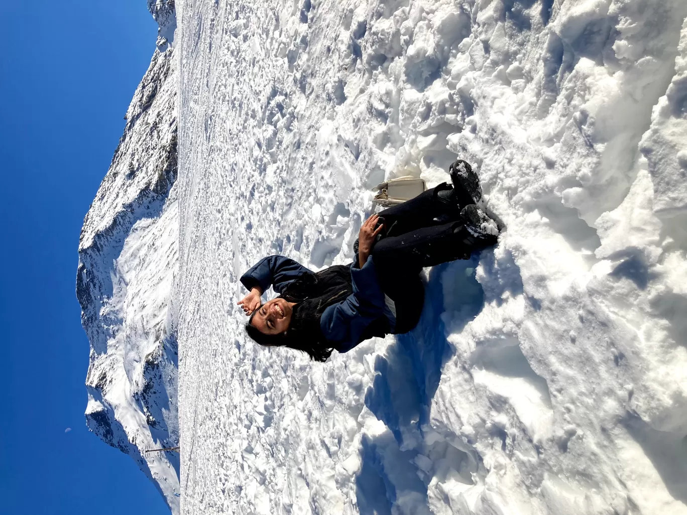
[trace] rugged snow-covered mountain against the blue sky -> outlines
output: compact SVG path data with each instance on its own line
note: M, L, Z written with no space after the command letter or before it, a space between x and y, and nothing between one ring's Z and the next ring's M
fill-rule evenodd
M173 10L164 16L161 34ZM131 455L178 513L179 455L145 453L179 443L171 316L179 227L177 62L164 37L84 220L76 293L91 343L87 425Z

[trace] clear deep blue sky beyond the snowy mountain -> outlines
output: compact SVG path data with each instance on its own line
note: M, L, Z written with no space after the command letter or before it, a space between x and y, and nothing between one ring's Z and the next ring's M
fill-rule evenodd
M134 461L85 426L74 293L83 217L157 25L146 0L3 1L2 21L0 512L168 514Z

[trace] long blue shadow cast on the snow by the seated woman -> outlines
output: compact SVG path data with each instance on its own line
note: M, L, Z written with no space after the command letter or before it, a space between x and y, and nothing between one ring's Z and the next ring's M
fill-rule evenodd
M425 442L423 426L429 422L442 367L453 355L446 324L451 332L460 332L484 306L484 292L475 279L478 260L473 256L433 267L420 323L412 332L398 335L385 356L376 358L377 375L365 393L365 406L389 431L363 438L356 481L361 515L390 514L395 503L403 505L403 512L431 513L427 485L433 466L426 455L432 456L436 446ZM444 299L455 305L444 305ZM444 458L456 461L453 468L461 470L460 461L467 455L449 447L453 452ZM469 474L465 481L471 484Z

